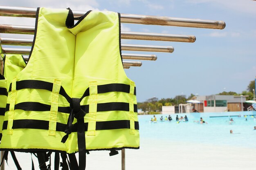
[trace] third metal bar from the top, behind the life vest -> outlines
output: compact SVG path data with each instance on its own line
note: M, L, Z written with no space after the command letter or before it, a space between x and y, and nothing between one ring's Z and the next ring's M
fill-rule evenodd
M33 43L32 39L0 38L0 44L2 45L32 46L32 43ZM174 51L174 48L172 46L146 46L146 45L121 44L121 50L172 53Z

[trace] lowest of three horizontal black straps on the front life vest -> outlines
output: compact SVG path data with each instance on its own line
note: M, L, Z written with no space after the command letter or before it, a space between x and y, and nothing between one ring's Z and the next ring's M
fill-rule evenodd
M135 129L139 130L139 122L135 121ZM8 121L3 122L2 129L7 129ZM85 131L88 129L88 122L84 123ZM35 119L19 119L13 120L13 129L49 129L49 121L35 120ZM65 132L67 128L66 124L57 122L56 131ZM72 124L72 132L77 131L77 123ZM129 129L130 120L113 120L113 121L97 121L95 130L112 130L112 129Z

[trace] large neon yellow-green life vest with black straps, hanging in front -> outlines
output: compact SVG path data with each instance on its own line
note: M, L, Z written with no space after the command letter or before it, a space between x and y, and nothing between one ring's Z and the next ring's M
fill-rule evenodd
M11 82L1 150L139 148L120 36L118 13L88 11L74 25L70 9L38 8L29 62Z

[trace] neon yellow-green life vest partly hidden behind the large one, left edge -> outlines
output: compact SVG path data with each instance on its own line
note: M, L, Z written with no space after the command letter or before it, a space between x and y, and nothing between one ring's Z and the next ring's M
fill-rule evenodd
M4 112L7 102L7 91L13 77L15 77L26 66L22 55L4 55L3 75L0 75L0 127L3 125ZM2 137L2 128L0 128L0 137Z

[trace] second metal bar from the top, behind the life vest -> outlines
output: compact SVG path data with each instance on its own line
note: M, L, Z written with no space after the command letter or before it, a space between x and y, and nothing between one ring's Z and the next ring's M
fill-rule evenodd
M0 24L0 33L34 34L34 31L35 31L34 26ZM121 31L121 39L172 41L172 42L195 42L194 35L139 33L139 32L126 32L126 31Z

